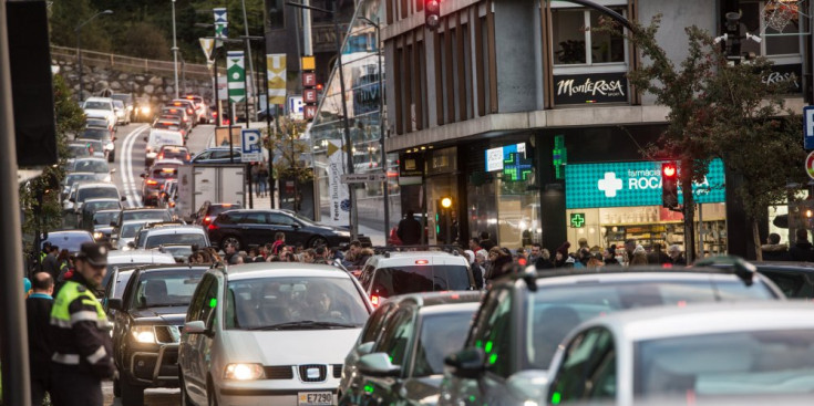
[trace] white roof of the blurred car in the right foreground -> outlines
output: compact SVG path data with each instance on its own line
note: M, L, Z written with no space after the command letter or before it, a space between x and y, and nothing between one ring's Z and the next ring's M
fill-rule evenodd
M814 304L802 301L722 302L615 312L578 327L604 325L622 341L761 330L814 329Z

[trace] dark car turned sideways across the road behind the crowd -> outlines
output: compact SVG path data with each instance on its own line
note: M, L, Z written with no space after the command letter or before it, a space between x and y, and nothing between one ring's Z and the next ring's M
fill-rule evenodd
M350 232L322 226L286 210L225 211L208 226L209 240L221 248L226 243L247 248L275 240L278 231L286 235L286 244L303 247L346 247Z

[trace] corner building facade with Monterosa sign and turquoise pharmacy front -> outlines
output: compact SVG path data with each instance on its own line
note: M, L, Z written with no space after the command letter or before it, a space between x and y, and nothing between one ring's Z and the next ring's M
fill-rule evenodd
M382 1L385 147L402 170L423 169L400 177L399 201L403 211L426 212L431 243L445 239L437 201L453 196L462 240L486 231L508 248L554 250L581 238L591 247L683 244L680 214L661 208L660 163L641 153L668 111L628 83L641 65L633 46L587 29L601 13L568 1L445 0L430 30L422 1ZM803 72L811 72L811 43L795 34L810 30L802 14L773 37L762 1L596 2L645 23L664 15L658 41L676 64L688 52L686 27L721 34L725 13L740 11L741 33L762 37L742 51L775 62L765 80L795 81L787 105L802 111ZM751 233L729 177L713 162L695 185L700 242L709 253L746 256Z

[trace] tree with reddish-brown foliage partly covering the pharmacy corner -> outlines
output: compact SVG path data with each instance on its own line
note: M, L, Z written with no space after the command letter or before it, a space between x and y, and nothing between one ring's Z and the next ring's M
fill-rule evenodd
M631 72L629 80L670 108L667 129L645 153L681 162L688 261L694 253L692 183L703 180L713 158L722 158L728 171L743 180L727 187L742 200L760 259L759 222L769 206L785 201L787 183L803 176L800 117L784 110L784 87L762 80L771 61L730 63L713 38L694 25L684 30L689 53L677 69L656 41L660 19L655 17L648 27L632 22L633 30L626 34L648 63ZM599 31L618 33L618 28L604 21Z

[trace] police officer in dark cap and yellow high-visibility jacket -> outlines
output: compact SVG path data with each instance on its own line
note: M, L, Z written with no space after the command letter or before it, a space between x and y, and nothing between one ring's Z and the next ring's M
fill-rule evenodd
M51 398L55 406L102 406L102 379L115 374L110 323L93 294L107 272L107 249L85 242L74 274L51 310Z

